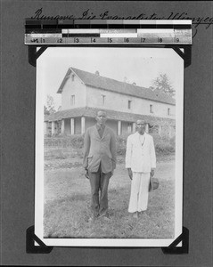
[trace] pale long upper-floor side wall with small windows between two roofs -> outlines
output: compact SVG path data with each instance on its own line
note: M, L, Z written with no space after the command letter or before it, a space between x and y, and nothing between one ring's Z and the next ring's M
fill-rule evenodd
M104 104L102 104L102 95L105 95ZM128 109L128 101L131 101L131 109ZM150 112L150 105L152 105L153 113ZM91 108L112 109L134 114L151 115L153 117L175 118L176 115L176 106L174 105L143 100L134 96L95 89L93 87L86 87L86 106ZM168 115L168 109L170 109L171 115Z

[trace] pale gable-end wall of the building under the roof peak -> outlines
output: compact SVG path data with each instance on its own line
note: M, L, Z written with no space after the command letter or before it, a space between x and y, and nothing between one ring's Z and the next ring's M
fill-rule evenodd
M75 104L73 105L71 105L72 95L75 95ZM86 107L86 85L76 76L74 77L74 81L72 81L72 75L70 75L61 93L61 110L81 107Z

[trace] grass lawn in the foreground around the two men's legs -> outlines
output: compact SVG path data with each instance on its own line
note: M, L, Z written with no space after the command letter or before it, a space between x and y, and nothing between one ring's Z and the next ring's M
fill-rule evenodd
M160 187L150 193L148 209L138 220L127 212L131 182L120 160L109 185L110 221L89 223L90 185L82 167L45 166L45 238L171 239L174 237L175 161L164 157L155 177ZM45 161L46 163L46 161ZM53 161L52 161L53 163ZM61 167L59 167L61 166Z

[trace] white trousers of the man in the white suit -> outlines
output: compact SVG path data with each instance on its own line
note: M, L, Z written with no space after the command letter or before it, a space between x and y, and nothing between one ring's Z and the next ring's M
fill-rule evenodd
M150 173L133 173L128 212L142 212L147 209Z

